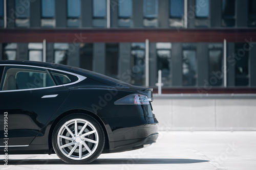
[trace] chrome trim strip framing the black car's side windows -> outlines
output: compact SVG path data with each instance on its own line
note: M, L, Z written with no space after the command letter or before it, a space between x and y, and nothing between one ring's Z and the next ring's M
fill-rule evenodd
M28 88L28 89L18 89L18 90L0 90L0 93L1 92L14 92L14 91L30 91L30 90L41 90L41 89L48 89L48 88L55 88L55 87L61 87L61 86L69 86L69 85L73 85L73 84L76 84L76 83L79 83L81 81L83 81L84 79L86 79L87 77L85 76L81 76L81 75L78 75L78 74L75 74L73 72L69 72L69 71L63 71L63 70L60 70L60 69L55 69L55 68L48 68L48 67L41 67L41 66L33 66L33 65L22 65L22 64L0 64L0 66L22 66L22 67L32 67L32 68L42 68L42 69L50 69L50 70L54 70L54 71L59 71L59 72L63 72L63 73L66 73L66 74L69 74L69 75L73 75L73 76L76 76L78 78L77 81L75 82L72 82L72 83L68 83L68 84L61 84L61 85L55 85L55 86L49 86L49 87L40 87L40 88Z

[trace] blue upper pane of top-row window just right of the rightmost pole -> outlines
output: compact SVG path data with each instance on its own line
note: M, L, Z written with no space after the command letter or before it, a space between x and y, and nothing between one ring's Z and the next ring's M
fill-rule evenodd
M196 16L208 17L209 16L209 0L196 0Z

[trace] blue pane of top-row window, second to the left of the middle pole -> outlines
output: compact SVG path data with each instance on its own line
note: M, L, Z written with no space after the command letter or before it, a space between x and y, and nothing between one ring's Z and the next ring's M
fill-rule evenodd
M67 15L69 18L78 18L80 16L80 0L67 0Z

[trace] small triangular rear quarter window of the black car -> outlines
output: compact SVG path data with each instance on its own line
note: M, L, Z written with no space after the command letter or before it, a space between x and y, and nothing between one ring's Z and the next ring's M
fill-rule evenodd
M64 72L53 71L53 70L49 70L49 71L51 72L52 78L56 83L56 85L73 83L78 80L76 76L66 74Z

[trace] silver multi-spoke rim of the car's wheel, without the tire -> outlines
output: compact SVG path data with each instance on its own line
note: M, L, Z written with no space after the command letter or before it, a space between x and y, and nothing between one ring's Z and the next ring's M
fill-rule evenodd
M99 135L88 120L76 118L60 127L57 142L63 155L73 160L82 160L96 151Z

